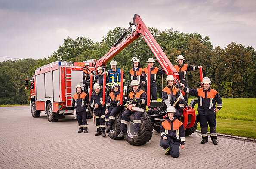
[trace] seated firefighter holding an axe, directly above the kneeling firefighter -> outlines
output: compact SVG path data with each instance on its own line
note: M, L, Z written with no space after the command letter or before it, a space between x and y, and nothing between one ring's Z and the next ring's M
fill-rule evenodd
M174 86L174 77L173 75L168 75L166 78L167 86L162 90L162 98L163 102L166 104L167 107L173 105L178 98L180 100L175 105L176 113L175 117L178 118L181 116L183 112L183 108L186 104L182 94L180 93L179 89Z

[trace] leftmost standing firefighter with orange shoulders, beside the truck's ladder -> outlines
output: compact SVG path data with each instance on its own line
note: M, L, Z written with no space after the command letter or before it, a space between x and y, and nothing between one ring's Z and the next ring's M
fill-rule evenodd
M83 92L80 84L76 85L76 94L73 95L74 111L77 113L77 121L79 130L78 133L88 133L88 124L86 120L86 104L89 103L89 97Z

